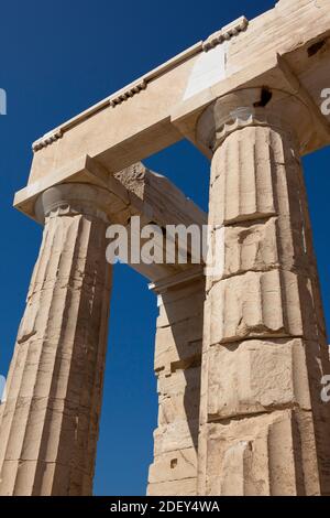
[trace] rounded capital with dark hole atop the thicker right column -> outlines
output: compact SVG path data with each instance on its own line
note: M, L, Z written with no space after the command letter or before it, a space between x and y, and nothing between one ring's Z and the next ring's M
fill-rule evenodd
M197 141L215 152L227 137L249 126L289 133L304 152L312 132L312 118L308 107L293 95L266 87L244 88L206 108L197 122Z

